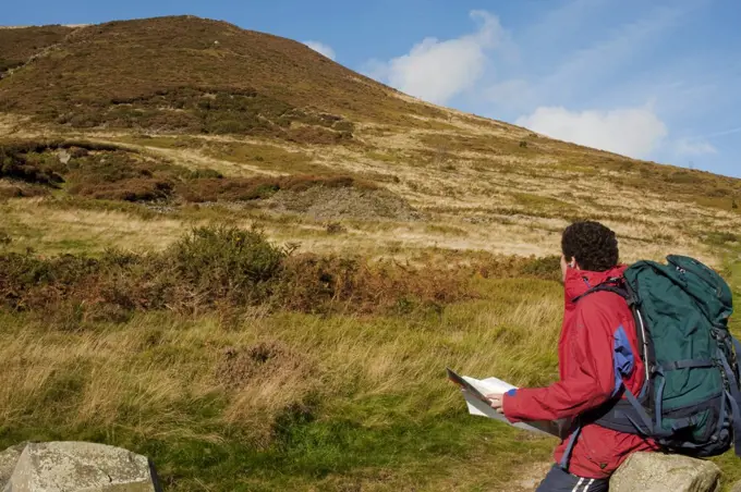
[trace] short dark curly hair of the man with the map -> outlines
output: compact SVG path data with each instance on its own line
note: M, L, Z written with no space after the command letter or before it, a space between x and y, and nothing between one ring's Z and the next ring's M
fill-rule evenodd
M604 272L618 265L618 239L615 232L599 222L574 222L566 227L561 250L567 261L575 258L582 270Z

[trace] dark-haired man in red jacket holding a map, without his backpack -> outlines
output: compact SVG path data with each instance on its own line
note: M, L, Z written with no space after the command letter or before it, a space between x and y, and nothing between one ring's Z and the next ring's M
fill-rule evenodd
M566 311L558 344L560 380L548 388L487 397L511 422L582 417L581 425L572 426L571 434L557 446L557 465L538 492L607 491L610 475L630 454L658 448L635 433L584 419L588 410L619 397L623 383L637 394L645 380L635 322L625 300L597 292L575 302L592 287L621 276L625 267L618 265L615 233L597 222L568 226L561 249Z

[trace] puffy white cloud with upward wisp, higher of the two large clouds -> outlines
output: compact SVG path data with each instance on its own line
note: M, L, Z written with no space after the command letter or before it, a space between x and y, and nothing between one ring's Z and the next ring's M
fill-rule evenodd
M426 38L402 57L388 62L370 61L365 72L401 91L445 104L474 87L488 63L487 51L508 45L499 19L473 11L478 29L455 39Z

